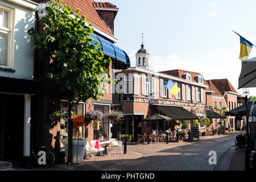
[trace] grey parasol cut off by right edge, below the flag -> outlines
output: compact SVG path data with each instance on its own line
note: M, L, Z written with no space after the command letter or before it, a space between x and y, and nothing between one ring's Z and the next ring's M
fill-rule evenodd
M256 57L242 61L238 89L256 87Z

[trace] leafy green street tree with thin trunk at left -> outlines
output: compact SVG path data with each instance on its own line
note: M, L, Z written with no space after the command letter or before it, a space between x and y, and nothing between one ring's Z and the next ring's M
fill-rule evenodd
M62 1L62 0L61 0ZM52 72L47 73L59 88L61 94L68 99L68 162L72 163L72 104L79 101L86 102L92 98L98 100L104 92L107 77L106 64L110 59L104 59L101 46L92 44L93 28L86 26L86 16L80 17L79 11L72 11L72 7L63 5L61 1L50 1L48 14L40 18L43 31L28 30L28 34L35 38L34 49L41 49L47 53Z

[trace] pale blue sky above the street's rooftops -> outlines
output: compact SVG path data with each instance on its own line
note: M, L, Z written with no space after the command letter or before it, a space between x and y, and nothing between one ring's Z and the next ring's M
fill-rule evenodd
M114 36L129 54L132 66L143 32L150 69L185 69L200 72L206 80L228 78L238 88L240 39L232 30L256 45L255 0L101 2L119 8ZM256 47L251 57L256 57ZM256 96L256 88L250 89L250 95Z

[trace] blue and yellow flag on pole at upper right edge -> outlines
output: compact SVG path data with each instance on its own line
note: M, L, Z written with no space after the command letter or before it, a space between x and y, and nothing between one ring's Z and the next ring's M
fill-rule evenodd
M233 31L235 32L235 31ZM237 34L237 32L235 32ZM237 34L239 35L239 34ZM239 59L242 61L247 60L249 58L251 49L253 48L253 44L250 43L248 40L243 38L241 35L240 36L240 56Z

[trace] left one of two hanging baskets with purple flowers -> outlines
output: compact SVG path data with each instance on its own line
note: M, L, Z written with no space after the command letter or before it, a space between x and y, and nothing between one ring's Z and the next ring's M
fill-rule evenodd
M93 121L94 130L100 130L101 120L105 117L101 110L89 110L85 117L87 120Z

